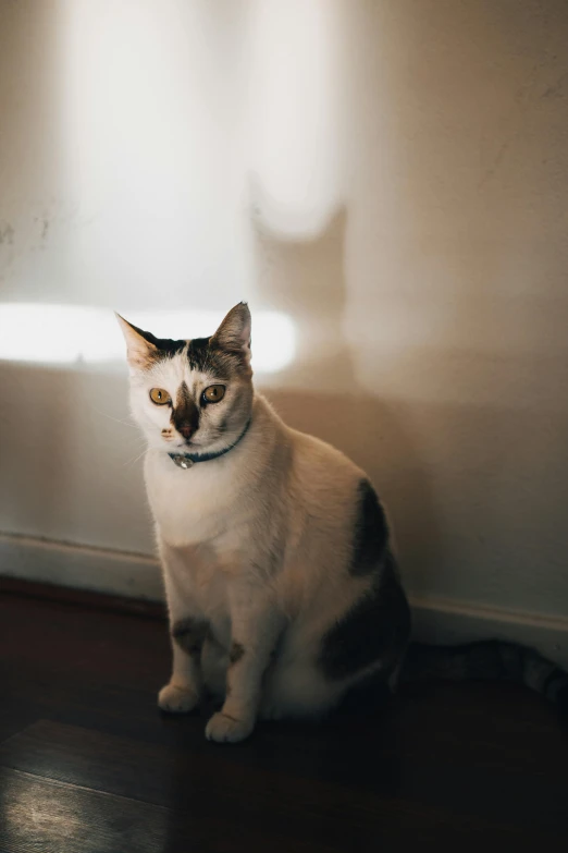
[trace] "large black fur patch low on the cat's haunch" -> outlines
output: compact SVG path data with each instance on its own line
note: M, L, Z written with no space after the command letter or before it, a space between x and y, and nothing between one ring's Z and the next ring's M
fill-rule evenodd
M373 663L387 678L403 657L410 634L410 609L387 555L381 575L322 639L319 667L332 681L354 675Z

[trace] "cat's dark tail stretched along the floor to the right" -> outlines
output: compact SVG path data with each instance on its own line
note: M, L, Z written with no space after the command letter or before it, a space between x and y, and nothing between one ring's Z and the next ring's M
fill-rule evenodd
M459 646L411 643L398 684L424 681L511 681L553 702L568 718L568 673L535 649L484 639Z

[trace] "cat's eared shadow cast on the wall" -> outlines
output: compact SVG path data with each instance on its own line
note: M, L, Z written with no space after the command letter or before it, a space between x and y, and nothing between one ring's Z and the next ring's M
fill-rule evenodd
M344 332L347 211L337 210L317 234L291 239L261 222L258 204L254 209L255 302L285 312L296 328L293 363L257 382L287 424L339 448L370 475L394 522L405 581L427 589L440 539L428 474L410 438L411 405L374 397L358 382Z

